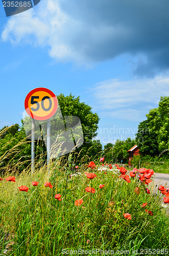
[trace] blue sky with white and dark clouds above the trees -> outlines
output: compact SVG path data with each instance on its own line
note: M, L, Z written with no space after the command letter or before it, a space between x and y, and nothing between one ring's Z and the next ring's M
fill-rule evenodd
M100 117L104 145L134 137L169 96L169 2L41 0L6 17L0 3L0 128L21 124L34 88L70 93Z

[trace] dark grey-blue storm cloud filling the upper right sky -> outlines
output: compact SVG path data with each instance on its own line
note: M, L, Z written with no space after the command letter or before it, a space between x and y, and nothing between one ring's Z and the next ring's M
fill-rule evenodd
M142 54L147 61L137 62L135 74L168 70L169 1L72 0L60 7L82 24L71 42L91 61Z

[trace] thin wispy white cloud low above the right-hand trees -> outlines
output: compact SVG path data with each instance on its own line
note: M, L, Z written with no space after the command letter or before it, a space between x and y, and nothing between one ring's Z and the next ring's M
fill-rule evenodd
M102 81L91 90L94 108L101 116L138 121L158 107L160 96L169 96L169 78Z

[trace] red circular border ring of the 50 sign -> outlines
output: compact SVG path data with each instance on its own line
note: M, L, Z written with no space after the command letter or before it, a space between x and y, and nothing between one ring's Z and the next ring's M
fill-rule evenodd
M43 92L49 93L54 99L54 109L49 115L47 115L45 117L39 117L39 116L33 115L33 113L30 111L29 106L28 106L28 101L29 101L31 95L33 93L38 92L38 91L43 91ZM38 120L38 121L45 121L47 119L50 119L56 113L57 108L58 108L58 99L57 99L56 95L51 90L49 90L47 88L43 88L43 87L35 88L32 91L30 91L27 94L27 97L25 98L25 110L26 110L26 112L28 113L28 115L30 117L32 117L33 119Z

